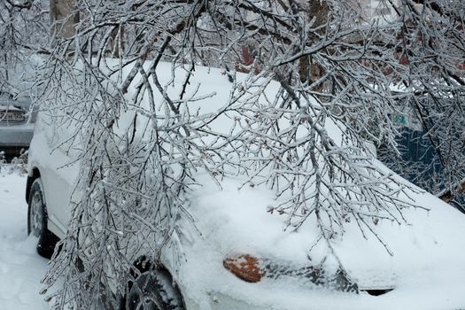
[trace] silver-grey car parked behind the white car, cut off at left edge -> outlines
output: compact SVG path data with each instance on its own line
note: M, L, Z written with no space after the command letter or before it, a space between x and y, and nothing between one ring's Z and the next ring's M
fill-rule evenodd
M27 150L34 134L35 115L29 120L30 99L0 96L0 151L7 158Z

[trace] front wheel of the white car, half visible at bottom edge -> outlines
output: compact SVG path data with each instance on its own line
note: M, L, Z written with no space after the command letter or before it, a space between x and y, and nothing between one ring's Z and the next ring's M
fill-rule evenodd
M180 291L165 270L143 272L132 284L128 295L129 310L184 310ZM125 300L126 303L126 300Z

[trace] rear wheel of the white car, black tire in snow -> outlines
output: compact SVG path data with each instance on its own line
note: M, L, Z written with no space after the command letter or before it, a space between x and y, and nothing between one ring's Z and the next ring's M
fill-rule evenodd
M37 178L31 185L27 207L27 235L38 237L37 252L50 259L58 243L58 237L47 228L47 206L43 196L43 183Z

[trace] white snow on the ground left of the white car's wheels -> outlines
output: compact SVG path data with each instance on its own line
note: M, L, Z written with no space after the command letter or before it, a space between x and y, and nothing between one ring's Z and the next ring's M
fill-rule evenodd
M26 174L0 174L0 310L49 309L39 291L48 260L27 236Z

